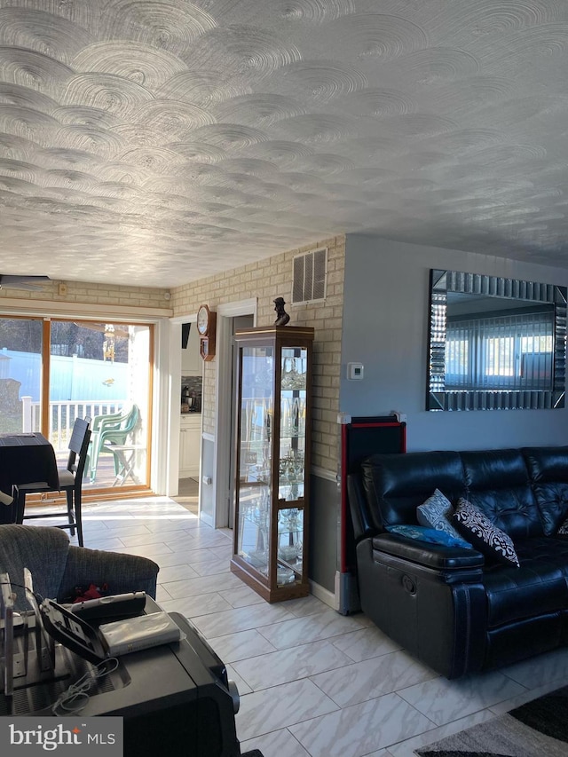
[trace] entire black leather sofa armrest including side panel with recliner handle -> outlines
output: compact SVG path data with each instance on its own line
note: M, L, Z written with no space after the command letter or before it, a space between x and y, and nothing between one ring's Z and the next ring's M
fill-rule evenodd
M473 549L425 545L398 534L361 540L361 609L439 674L476 673L483 666L487 635L482 565L483 557Z

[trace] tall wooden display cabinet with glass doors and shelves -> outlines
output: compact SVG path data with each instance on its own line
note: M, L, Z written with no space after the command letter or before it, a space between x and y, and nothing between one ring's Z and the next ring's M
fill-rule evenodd
M231 570L267 602L309 594L313 328L235 333L236 483Z

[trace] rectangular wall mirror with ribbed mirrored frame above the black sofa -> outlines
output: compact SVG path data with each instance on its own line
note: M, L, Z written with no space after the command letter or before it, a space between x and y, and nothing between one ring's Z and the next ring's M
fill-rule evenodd
M564 407L566 287L430 271L427 410Z

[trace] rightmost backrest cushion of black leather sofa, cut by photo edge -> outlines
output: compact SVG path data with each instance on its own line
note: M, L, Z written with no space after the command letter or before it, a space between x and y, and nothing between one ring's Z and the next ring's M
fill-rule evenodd
M525 447L522 452L543 532L551 536L568 516L568 447Z

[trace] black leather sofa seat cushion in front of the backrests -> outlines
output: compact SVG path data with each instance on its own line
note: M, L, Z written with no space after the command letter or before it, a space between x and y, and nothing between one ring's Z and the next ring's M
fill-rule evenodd
M493 564L484 571L489 627L566 609L568 540L517 541L520 567Z

